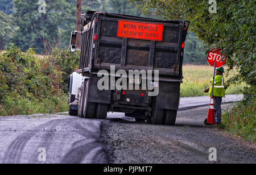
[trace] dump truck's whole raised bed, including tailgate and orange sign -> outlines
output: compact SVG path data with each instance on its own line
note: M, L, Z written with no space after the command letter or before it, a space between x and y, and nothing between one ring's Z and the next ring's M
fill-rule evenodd
M81 58L88 26L82 31ZM85 72L110 70L114 65L115 70L159 70L160 76L181 81L187 22L105 14L98 15L92 26Z

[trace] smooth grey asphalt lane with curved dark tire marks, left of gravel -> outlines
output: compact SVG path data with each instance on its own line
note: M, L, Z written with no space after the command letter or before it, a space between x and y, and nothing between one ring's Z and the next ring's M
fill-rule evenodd
M101 124L68 115L0 118L0 163L108 163ZM46 149L46 161L38 159Z

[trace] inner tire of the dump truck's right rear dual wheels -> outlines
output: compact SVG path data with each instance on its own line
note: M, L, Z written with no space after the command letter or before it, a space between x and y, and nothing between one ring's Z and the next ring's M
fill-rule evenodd
M156 98L154 98L152 101L152 115L147 122L150 124L163 124L163 119L164 119L164 110L158 108Z

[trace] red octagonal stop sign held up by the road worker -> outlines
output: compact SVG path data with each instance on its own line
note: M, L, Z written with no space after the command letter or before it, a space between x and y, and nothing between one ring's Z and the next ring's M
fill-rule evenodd
M220 68L226 64L226 56L221 55L221 49L212 49L208 52L207 62L213 67L216 62L216 68Z

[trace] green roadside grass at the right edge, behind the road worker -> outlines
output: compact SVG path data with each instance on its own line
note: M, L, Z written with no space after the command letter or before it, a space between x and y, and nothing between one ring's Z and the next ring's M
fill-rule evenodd
M229 134L248 141L256 141L255 99L250 102L238 102L222 116L221 127Z

